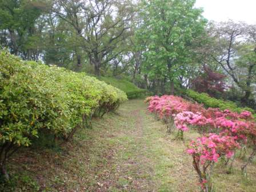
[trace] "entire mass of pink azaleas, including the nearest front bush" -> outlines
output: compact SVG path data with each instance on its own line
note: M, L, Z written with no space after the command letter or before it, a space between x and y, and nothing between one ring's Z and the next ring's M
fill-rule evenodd
M234 157L235 150L249 145L248 141L253 146L249 161L256 154L256 123L249 111L239 114L230 110L205 109L198 103L173 95L149 97L146 102L151 113L175 125L181 138L189 127L195 127L202 134L196 141L191 141L187 149L187 153L193 157L202 191L211 187L209 169L219 158L229 160ZM249 161L242 166L242 170L246 169Z

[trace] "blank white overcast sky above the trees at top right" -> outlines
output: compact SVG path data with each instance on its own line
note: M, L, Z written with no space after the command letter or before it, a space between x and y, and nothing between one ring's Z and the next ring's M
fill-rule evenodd
M208 20L256 24L256 0L197 0L195 6L203 8L203 16Z

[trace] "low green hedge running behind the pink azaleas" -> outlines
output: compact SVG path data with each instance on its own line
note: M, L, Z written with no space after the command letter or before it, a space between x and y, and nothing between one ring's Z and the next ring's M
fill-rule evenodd
M229 109L234 112L241 113L242 111L250 111L251 113L255 114L255 111L249 107L238 107L234 102L232 101L224 101L222 99L216 99L213 97L210 97L206 93L198 93L193 90L186 90L185 94L194 99L194 101L197 101L198 103L203 103L205 107L212 107L212 108L219 108L221 110Z

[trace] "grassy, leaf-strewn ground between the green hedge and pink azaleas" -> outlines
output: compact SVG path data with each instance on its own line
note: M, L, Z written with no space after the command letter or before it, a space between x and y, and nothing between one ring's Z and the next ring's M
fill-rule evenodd
M81 130L61 148L24 149L25 154L13 159L16 187L2 190L198 191L185 146L166 134L165 125L147 113L142 100L128 101L117 113L94 119L93 127ZM197 136L185 133L185 143ZM232 174L226 174L221 164L215 167L216 191L255 191L255 165L248 167L245 178L240 163L235 162Z

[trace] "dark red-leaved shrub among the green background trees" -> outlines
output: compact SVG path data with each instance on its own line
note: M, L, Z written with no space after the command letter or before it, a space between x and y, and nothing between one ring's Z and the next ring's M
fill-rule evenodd
M203 67L203 73L193 79L192 85L195 91L208 93L212 97L215 97L218 92L223 93L226 90L225 77L225 75L214 72L205 66Z

